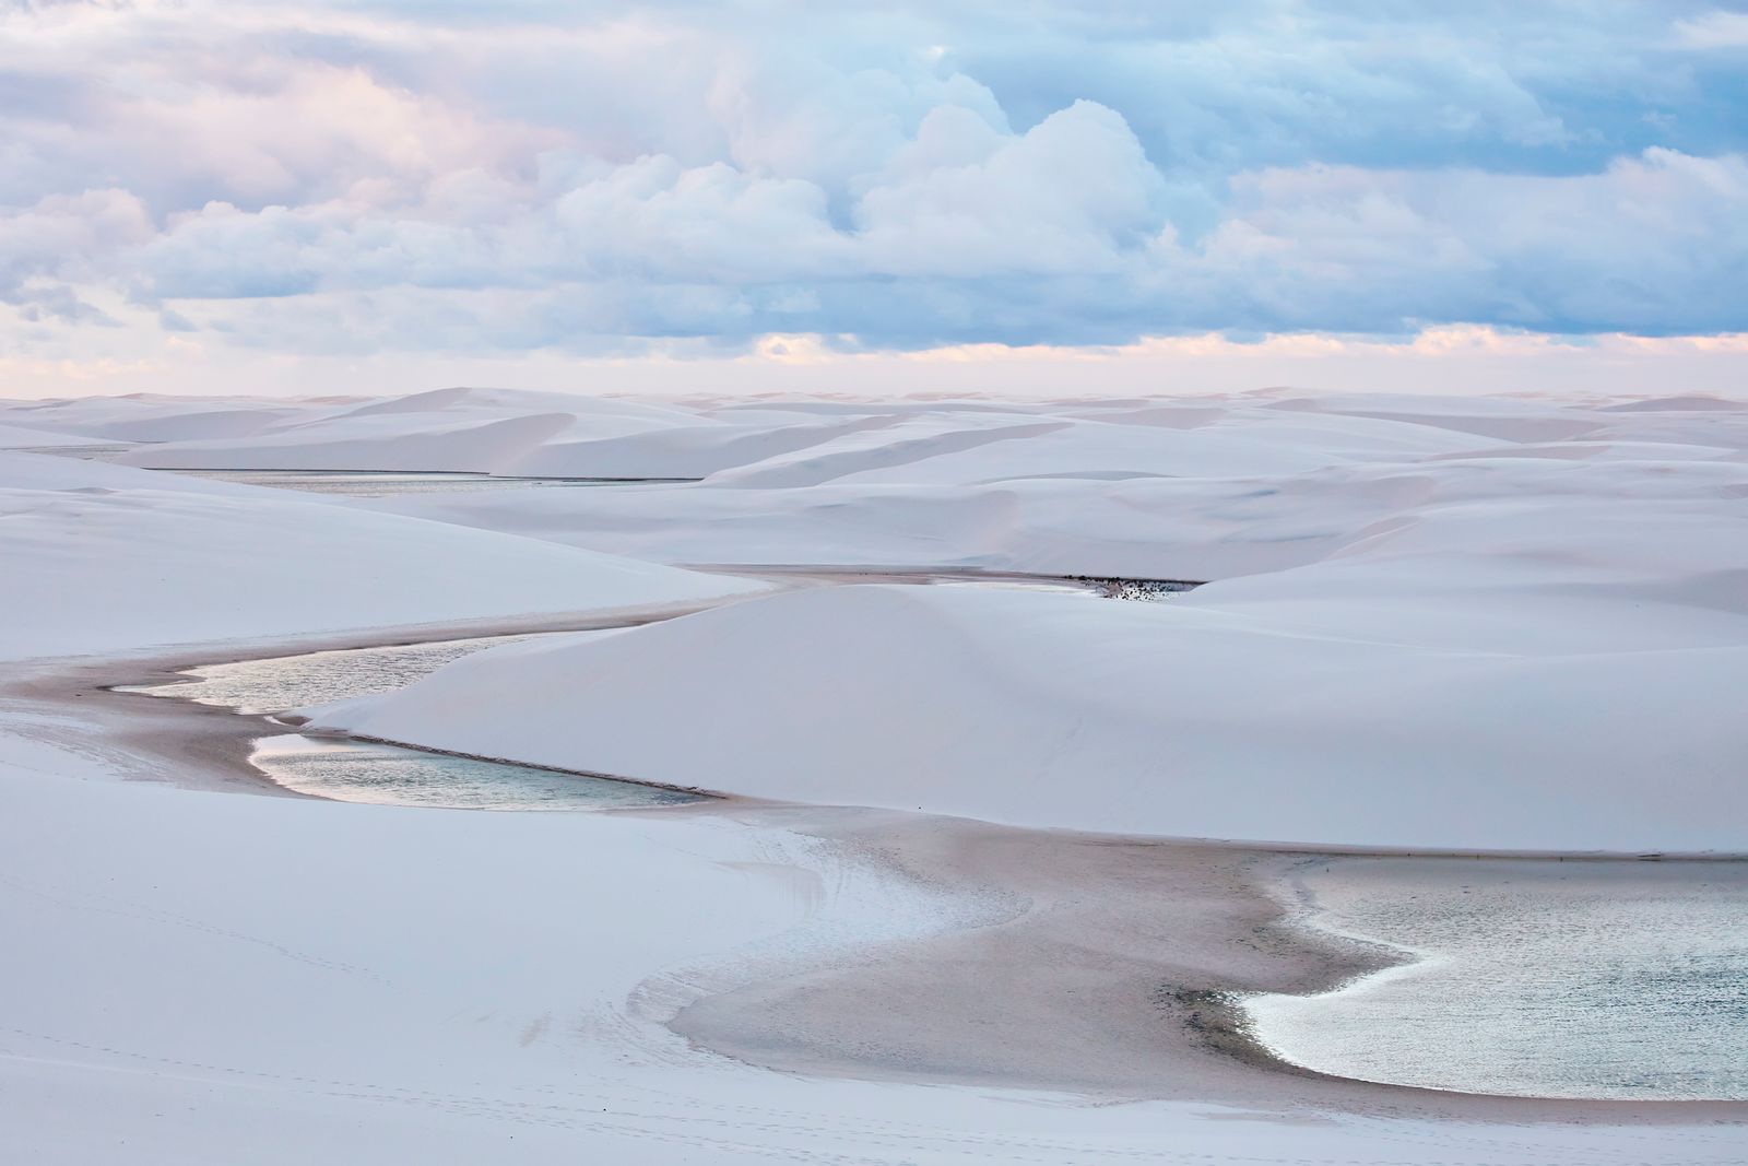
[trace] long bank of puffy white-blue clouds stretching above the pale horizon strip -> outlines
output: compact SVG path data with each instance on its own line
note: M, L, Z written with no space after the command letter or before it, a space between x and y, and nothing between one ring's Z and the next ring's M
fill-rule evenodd
M963 133L958 145L942 145L942 122ZM1577 177L1266 170L1234 175L1225 219L1185 243L1161 177L1110 110L1072 107L1024 135L968 129L949 110L912 145L846 227L813 184L650 157L545 201L523 191L507 215L215 203L117 253L150 302L292 301L239 315L239 332L285 327L308 306L297 301L367 294L369 327L357 311L315 309L343 348L364 334L397 348L465 337L598 351L615 337L741 344L767 332L918 348L1444 322L1748 327L1741 157L1650 150ZM397 295L416 309L388 311ZM297 343L320 344L322 327Z

